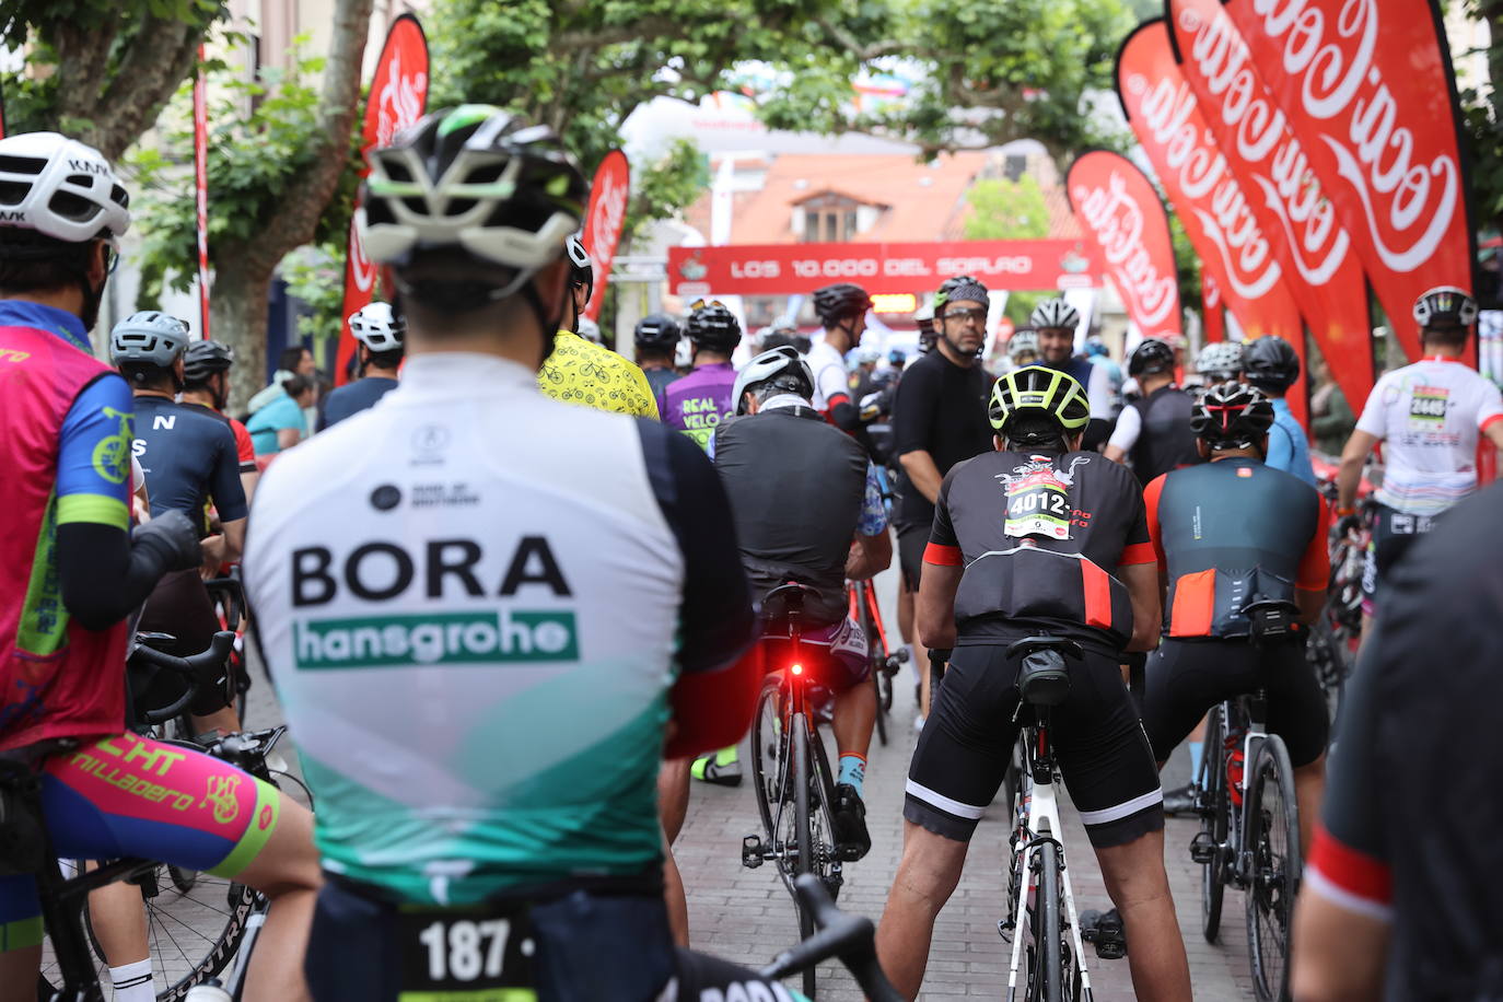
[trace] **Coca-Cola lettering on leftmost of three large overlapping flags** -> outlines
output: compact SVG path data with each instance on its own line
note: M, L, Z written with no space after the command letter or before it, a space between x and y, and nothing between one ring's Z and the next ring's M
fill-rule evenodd
M1243 299L1261 299L1284 270L1214 137L1199 123L1195 95L1183 80L1168 78L1144 81L1141 93L1139 111L1147 131L1162 149L1165 165L1177 176L1205 237L1216 246L1226 281Z

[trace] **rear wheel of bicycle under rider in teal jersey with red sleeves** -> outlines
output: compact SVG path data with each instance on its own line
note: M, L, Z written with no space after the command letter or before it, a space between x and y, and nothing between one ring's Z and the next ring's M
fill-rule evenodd
M1247 787L1247 955L1258 1002L1290 997L1290 922L1300 889L1300 811L1294 769L1278 735L1258 745Z

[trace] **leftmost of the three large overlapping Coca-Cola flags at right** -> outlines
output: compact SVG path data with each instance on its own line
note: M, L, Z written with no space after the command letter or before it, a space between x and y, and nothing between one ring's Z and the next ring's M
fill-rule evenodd
M1303 361L1305 326L1285 287L1273 239L1258 225L1247 194L1207 128L1174 62L1162 18L1138 26L1123 42L1117 53L1117 96L1201 266L1247 337L1276 333ZM1308 410L1305 388L1302 371L1288 394L1290 410L1302 424Z

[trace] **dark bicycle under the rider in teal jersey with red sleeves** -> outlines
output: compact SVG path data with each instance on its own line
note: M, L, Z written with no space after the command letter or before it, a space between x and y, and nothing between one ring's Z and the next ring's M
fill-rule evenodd
M1247 611L1260 608L1293 611L1288 602L1254 602ZM1190 841L1190 859L1202 867L1205 942L1220 934L1226 886L1246 892L1247 955L1260 1002L1290 997L1288 934L1303 867L1294 766L1284 739L1269 733L1267 718L1261 687L1211 711L1195 778L1201 831Z

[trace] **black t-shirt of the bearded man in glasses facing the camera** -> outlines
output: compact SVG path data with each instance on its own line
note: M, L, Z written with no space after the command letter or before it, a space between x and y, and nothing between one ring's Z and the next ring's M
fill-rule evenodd
M908 367L893 401L893 440L899 457L927 452L939 476L956 463L992 448L986 419L992 377L980 365L960 368L938 349ZM897 521L927 526L935 506L905 476L897 500Z

